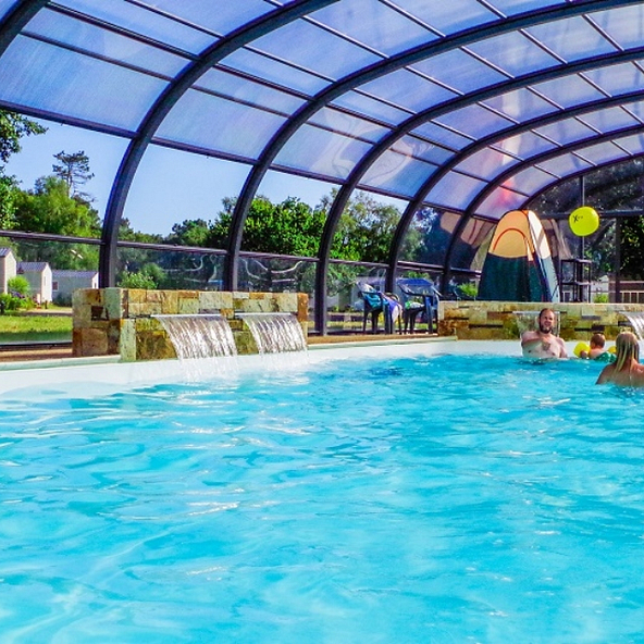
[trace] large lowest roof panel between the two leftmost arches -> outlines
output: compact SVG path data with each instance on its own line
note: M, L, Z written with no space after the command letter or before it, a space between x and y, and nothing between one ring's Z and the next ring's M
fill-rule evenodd
M0 60L0 98L134 131L165 83L18 37Z

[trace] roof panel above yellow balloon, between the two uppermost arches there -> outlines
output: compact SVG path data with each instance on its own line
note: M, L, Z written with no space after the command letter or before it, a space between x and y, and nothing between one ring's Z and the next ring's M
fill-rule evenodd
M581 16L550 21L530 27L528 33L566 61L615 51L615 47Z

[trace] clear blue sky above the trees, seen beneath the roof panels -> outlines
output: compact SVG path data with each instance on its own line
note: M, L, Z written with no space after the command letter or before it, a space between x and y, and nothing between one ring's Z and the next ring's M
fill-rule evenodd
M30 189L36 179L52 174L54 154L83 151L95 174L83 191L95 198L92 206L102 219L127 140L69 125L39 122L48 128L47 133L21 139L22 151L10 158L7 174L14 175L22 189ZM123 214L136 231L160 235L170 234L172 225L184 220L212 221L222 209L222 199L238 195L248 170L239 163L149 146ZM331 188L322 182L273 172L267 175L259 193L275 202L298 197L315 206Z

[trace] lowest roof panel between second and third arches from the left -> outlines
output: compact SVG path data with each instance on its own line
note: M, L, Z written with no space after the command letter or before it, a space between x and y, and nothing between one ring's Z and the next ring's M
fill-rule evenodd
M158 138L256 159L283 123L275 114L190 90L163 121Z

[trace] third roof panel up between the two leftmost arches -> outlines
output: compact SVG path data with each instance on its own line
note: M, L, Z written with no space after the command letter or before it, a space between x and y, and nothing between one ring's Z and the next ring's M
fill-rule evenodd
M191 53L199 53L213 41L203 32L128 2L62 0L60 4Z

